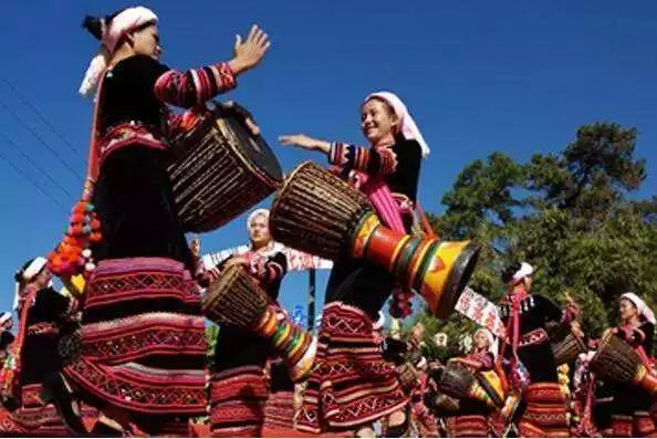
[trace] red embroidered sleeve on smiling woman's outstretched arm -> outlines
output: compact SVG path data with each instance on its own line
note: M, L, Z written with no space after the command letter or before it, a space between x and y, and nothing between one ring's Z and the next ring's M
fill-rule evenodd
M328 161L371 176L389 175L397 170L397 154L393 148L364 148L334 142L328 151Z

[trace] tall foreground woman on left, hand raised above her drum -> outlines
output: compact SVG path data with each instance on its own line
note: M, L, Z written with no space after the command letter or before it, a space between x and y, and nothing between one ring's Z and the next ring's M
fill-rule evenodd
M95 92L87 179L50 258L60 275L88 276L82 355L66 377L102 410L94 433L187 436L187 419L206 411L206 343L166 170L168 138L191 113L174 117L169 105L194 107L233 88L264 56L268 36L253 25L230 61L178 72L159 62L158 17L147 8L87 17L83 27L101 42L80 88Z

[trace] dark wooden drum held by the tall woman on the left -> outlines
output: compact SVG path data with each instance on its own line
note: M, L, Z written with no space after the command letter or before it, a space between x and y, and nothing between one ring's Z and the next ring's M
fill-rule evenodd
M167 170L186 231L218 229L271 195L282 180L264 139L226 111L199 114L171 143L174 159Z

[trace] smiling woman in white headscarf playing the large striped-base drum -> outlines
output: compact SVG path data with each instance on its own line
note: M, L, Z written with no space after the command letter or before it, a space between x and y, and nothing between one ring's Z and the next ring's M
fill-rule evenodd
M423 135L410 116L406 105L395 94L379 92L368 95L361 105L361 128L369 142L369 147L359 147L345 143L328 143L305 135L285 135L279 140L283 145L293 145L309 150L317 150L327 156L331 165L337 167L340 175L354 182L373 202L376 211L388 228L409 233L414 226L415 203L420 165L429 154ZM363 352L362 337L366 336L367 355L343 357L341 355L317 354L322 367L316 370L331 370L311 376L306 397L299 418L299 426L305 431L319 432L321 426L330 431L343 429L363 429L366 431L372 420L397 412L405 407L404 393L397 384L395 370L387 368L380 357L379 347L372 334L373 322L396 286L396 280L387 270L371 262L358 260L335 261L326 286L326 299L323 310L323 322L320 339L321 346L351 346L354 352ZM410 313L410 293L396 290L390 314L405 317ZM346 323L337 327L332 322L365 322L366 327ZM335 331L331 326L336 326ZM358 327L358 331L350 328ZM364 335L364 334L367 335ZM353 339L353 342L345 342ZM353 344L353 345L352 345ZM345 351L346 352L346 351ZM372 352L372 354L369 354ZM332 374L342 374L342 364L347 362L353 370L371 367L373 355L380 367L377 373L369 374L368 389L363 390L362 374L354 373L348 379L341 377L340 388ZM373 368L374 370L374 368ZM337 376L336 376L337 377ZM338 393L335 407L330 410L317 404L322 394ZM355 397L359 395L359 397ZM401 436L407 421L404 416L393 416L389 436ZM399 419L404 419L399 422ZM398 424L399 422L399 424ZM364 432L366 433L366 432Z

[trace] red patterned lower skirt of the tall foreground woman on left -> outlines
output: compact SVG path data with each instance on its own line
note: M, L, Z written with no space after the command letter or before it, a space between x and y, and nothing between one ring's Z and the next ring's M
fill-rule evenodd
M112 403L146 421L178 416L187 422L187 416L202 415L205 327L201 316L185 313L198 307L199 295L182 264L164 258L101 261L85 293L80 356L64 368L85 400ZM152 428L159 431L157 424Z

